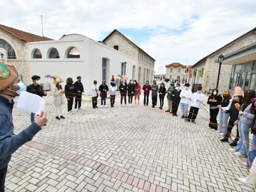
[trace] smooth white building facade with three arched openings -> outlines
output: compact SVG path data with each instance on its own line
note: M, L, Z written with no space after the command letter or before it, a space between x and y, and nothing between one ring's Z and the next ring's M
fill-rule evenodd
M78 49L80 58L67 57L68 51L72 47ZM52 48L57 49L60 58L49 58L49 52ZM40 50L42 58L33 58L36 49ZM91 95L93 80L96 80L99 85L104 76L106 76L107 83L109 83L112 75L115 76L115 79L120 79L122 74L132 78L132 74L138 70L138 60L135 58L77 34L65 35L60 40L29 43L28 55L30 76L40 76L41 82L49 83L51 89L54 84L53 79L45 78L48 74L59 76L63 79L64 84L67 77L72 77L75 82L76 77L81 76L86 95ZM102 70L102 60L106 60L105 73ZM122 63L123 65L125 63L123 69Z

